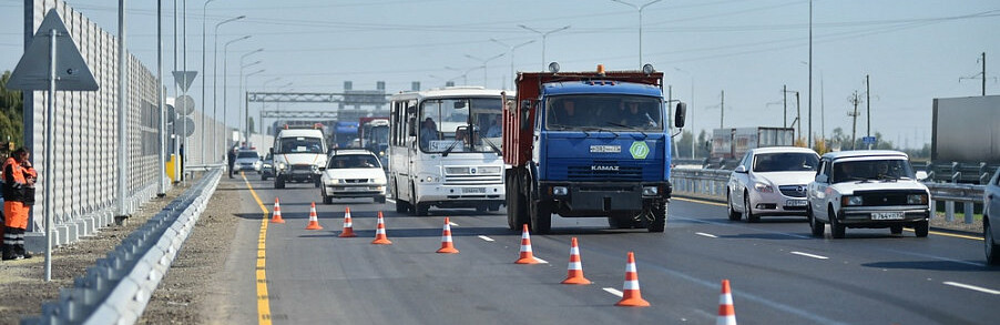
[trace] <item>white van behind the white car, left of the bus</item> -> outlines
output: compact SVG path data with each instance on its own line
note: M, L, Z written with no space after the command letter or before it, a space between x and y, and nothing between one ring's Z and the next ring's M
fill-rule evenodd
M323 125L292 129L287 125L274 139L274 187L285 189L285 182L312 182L320 187L320 167L326 166L326 139Z

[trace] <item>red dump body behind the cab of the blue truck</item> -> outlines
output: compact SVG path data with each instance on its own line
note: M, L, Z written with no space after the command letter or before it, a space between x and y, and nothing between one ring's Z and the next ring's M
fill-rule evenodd
M503 98L503 162L513 167L531 160L534 114L542 100L542 85L567 81L615 81L652 84L663 88L663 72L641 71L519 72L517 99ZM527 106L525 106L527 104ZM527 125L523 125L527 124Z

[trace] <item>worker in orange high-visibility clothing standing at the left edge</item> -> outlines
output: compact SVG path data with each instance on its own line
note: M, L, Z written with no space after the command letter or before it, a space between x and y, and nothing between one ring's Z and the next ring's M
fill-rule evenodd
M3 260L31 258L24 250L28 212L34 205L38 172L31 167L28 149L20 148L3 163Z

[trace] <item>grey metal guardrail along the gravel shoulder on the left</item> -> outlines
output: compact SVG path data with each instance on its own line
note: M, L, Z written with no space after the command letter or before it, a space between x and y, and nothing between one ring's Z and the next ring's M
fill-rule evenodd
M134 324L215 193L222 169L205 174L42 305L42 315L21 324Z

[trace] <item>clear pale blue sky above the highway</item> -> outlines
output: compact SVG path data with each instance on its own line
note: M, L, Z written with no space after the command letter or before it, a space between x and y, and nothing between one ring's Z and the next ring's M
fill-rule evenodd
M118 1L67 2L104 30L118 33ZM127 2L129 51L155 72L156 3ZM0 71L13 70L23 52L23 3L0 0ZM184 1L177 3L178 14L185 17ZM722 92L724 126L782 126L782 88L787 85L799 92L805 138L810 124L809 3L652 3L642 11L642 62L663 71L673 98L688 103L685 129L711 132L718 128ZM1000 69L989 65L1000 62L991 57L1000 53L996 37L1000 2L996 0L812 3L815 136L830 134L835 128L850 133L853 105L848 99L855 92L865 97L866 75L873 133L878 131L882 140L902 148L930 142L932 99L980 95L983 52L987 94L1000 94ZM170 71L175 48L174 2L163 1L163 6L164 70ZM207 7L204 1L187 1L186 7L186 51L181 42L178 61L186 52L187 70L202 70L204 22L210 74L215 24L246 16L218 29L220 62L223 43L251 35L228 49L231 99L239 98L236 62L256 49L264 50L246 57L245 63L262 63L246 72L265 71L248 78L252 91L340 92L344 81L351 81L355 90L375 89L376 82L385 81L388 92L398 92L409 90L414 81L428 89L448 80L511 89L511 63L517 71L540 71L548 65L543 53L544 61L559 62L562 71L594 70L596 64L608 70L640 68L639 11L611 0L214 0ZM207 8L204 16L203 8ZM569 28L545 37L543 50L542 37L521 26L542 32ZM530 41L514 50L511 60L509 47ZM501 54L486 62L484 70L478 69L483 59ZM183 62L177 64L183 70ZM191 87L198 106L203 77L200 73ZM212 79L207 81L211 89ZM165 84L170 82L167 77ZM789 93L787 101L790 123L796 115L795 93ZM234 102L228 103L229 121L237 119ZM859 138L867 125L867 104L859 106ZM253 106L251 114L256 115Z

